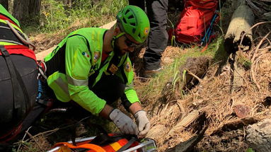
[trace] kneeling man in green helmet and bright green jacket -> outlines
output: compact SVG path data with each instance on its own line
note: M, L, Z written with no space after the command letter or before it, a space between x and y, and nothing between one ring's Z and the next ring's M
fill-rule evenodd
M133 88L129 52L149 35L149 19L137 6L117 13L110 30L81 28L45 57L47 85L57 100L73 100L93 115L112 120L123 134L146 136L149 119ZM110 106L118 98L137 122Z

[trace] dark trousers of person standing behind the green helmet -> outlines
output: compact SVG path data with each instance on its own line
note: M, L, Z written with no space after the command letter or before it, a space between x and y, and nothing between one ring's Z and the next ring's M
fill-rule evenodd
M139 6L145 10L144 0L129 0L130 5ZM144 54L145 70L159 69L163 51L168 42L166 32L168 0L146 0L146 11L151 30L148 38L148 48Z

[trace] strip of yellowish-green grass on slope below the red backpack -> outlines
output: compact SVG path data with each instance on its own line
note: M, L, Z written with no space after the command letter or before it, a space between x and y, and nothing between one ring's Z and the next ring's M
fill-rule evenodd
M137 92L139 93L141 100L154 100L157 98L159 95L161 95L161 91L163 90L164 86L166 86L168 81L172 82L173 89L175 88L175 83L178 81L181 83L183 80L183 73L181 73L179 69L180 66L185 64L188 57L209 56L214 59L214 62L217 62L217 59L215 58L219 56L219 52L224 51L223 36L217 37L217 39L214 40L204 52L201 52L201 50L202 47L192 47L187 48L183 54L174 55L174 62L172 64L164 66L163 71L161 71L158 76L152 78L148 84L139 86L140 88L137 88ZM180 49L180 52L182 51L184 52L183 49ZM180 91L181 92L179 94L184 97L185 93L182 90Z

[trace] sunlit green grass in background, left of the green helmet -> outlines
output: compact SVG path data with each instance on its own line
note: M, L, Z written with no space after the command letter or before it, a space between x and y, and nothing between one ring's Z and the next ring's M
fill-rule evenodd
M44 0L38 30L43 33L54 33L69 28L76 21L80 23L87 21L85 25L79 26L97 27L108 23L108 18L114 18L126 5L125 0L77 0L71 6L59 0Z

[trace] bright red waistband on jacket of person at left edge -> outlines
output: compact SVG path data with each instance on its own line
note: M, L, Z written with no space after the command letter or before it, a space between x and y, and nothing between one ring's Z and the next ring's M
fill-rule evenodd
M33 50L25 47L24 45L5 45L4 47L9 54L21 54L25 57L30 57L31 59L34 59L36 61L36 56ZM1 52L0 55L2 55Z

